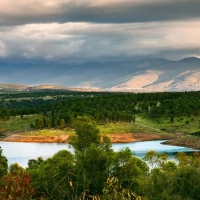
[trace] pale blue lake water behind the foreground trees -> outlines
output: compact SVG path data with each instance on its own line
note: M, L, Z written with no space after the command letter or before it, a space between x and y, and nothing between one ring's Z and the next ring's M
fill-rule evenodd
M113 144L114 151L119 151L122 148L129 147L133 155L142 158L145 153L154 150L159 153L164 152L173 159L177 152L194 152L198 151L192 148L170 146L161 144L166 140L134 142L134 143L119 143ZM0 147L3 149L3 155L7 157L8 164L19 163L22 167L27 167L29 159L36 159L39 156L48 158L56 152L69 149L68 144L59 143L21 143L21 142L2 142Z

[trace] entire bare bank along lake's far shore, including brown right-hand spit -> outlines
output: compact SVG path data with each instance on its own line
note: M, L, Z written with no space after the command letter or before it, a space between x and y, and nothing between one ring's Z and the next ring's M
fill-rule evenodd
M105 135L105 134L104 134ZM163 144L173 146L183 146L200 149L200 138L183 138L181 133L177 134L158 134L158 133L113 133L106 134L111 143L131 143L153 140L168 140ZM2 138L6 142L30 142L30 143L67 143L69 134L57 135L24 135L14 133Z

